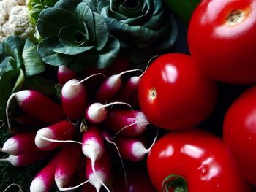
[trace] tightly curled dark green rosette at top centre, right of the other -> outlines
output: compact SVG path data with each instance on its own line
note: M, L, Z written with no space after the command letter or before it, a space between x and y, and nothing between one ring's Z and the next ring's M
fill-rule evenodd
M140 64L176 42L175 20L162 0L98 0L108 29L129 60Z

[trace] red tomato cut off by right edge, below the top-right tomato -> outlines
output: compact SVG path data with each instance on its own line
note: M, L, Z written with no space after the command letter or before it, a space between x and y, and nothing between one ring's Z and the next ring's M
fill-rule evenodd
M256 185L256 86L239 96L227 110L223 139L238 172Z

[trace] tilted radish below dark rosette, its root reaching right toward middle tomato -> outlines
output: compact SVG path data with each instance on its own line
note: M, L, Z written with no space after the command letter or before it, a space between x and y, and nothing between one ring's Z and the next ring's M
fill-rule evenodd
M96 101L100 103L111 101L121 88L121 75L136 71L140 71L140 69L132 69L119 74L113 74L112 76L108 77L108 79L102 83L97 91L95 96Z

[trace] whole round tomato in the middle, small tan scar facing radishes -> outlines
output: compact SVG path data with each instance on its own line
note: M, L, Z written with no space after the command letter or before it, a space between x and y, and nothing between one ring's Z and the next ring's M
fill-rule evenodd
M190 128L210 115L216 83L201 74L189 55L169 53L148 67L138 85L140 108L160 128Z

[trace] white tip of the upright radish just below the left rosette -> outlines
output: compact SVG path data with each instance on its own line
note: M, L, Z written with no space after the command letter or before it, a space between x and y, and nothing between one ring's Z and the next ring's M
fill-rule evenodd
M78 80L72 79L65 83L61 90L61 95L67 99L75 99L80 94L83 85Z

